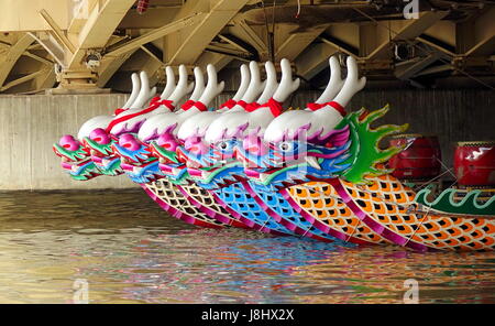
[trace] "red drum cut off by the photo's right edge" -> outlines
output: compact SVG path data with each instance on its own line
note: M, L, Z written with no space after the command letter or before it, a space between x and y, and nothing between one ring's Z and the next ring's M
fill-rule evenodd
M495 185L495 141L458 142L454 171L462 186Z

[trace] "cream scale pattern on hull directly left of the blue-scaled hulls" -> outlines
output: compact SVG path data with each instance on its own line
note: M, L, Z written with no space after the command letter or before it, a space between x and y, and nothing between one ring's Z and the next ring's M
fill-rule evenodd
M190 183L188 185L177 186L177 188L188 197L191 204L208 214L210 217L213 217L217 220L232 227L250 228L230 215L223 206L215 200L213 196L207 189L198 186L197 184Z

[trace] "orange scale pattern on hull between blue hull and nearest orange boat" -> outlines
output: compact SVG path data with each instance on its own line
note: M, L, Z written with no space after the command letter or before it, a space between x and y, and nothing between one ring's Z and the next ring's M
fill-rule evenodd
M300 209L300 214L309 215L315 226L327 232L341 232L348 241L356 243L383 244L392 243L383 238L352 210L339 200L337 191L326 182L309 182L286 189L289 200Z

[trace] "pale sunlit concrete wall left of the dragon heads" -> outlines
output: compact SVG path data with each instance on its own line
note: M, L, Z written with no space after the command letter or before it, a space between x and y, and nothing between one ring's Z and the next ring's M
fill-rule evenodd
M0 189L135 187L125 176L74 181L52 150L63 134L77 134L86 120L109 115L125 98L125 95L0 97Z

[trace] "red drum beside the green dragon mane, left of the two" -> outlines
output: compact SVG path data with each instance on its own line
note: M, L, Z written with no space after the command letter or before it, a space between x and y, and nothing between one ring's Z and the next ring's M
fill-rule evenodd
M397 134L389 144L405 146L388 160L388 167L394 169L393 176L399 180L433 178L441 171L440 143L436 135Z

